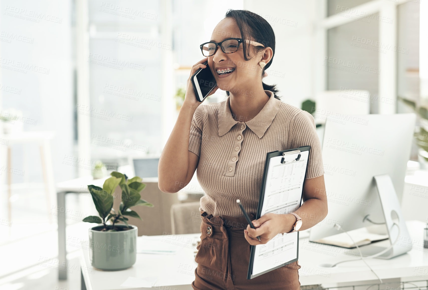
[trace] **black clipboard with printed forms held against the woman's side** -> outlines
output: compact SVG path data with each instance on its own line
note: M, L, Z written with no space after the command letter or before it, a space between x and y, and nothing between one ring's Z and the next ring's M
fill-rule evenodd
M264 214L269 212L287 214L300 207L310 148L311 146L302 146L266 153L256 219L259 219L263 212ZM267 188L274 191L265 194ZM288 200L289 197L291 197L290 200ZM298 258L299 231L278 234L266 244L251 246L247 279L294 263ZM274 263L272 263L273 260ZM255 262L258 264L255 265Z

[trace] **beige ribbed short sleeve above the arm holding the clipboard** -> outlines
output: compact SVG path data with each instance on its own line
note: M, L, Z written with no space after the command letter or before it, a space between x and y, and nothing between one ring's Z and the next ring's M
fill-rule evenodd
M306 179L318 177L324 174L321 143L316 132L314 117L307 111L301 111L294 118L291 127L291 148L311 146L309 150Z

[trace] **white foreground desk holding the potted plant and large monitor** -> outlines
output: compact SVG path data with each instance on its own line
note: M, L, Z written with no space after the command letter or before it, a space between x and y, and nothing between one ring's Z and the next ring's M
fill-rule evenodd
M407 227L414 240L413 249L404 255L384 259L370 259L367 263L381 279L414 277L411 280L428 279L428 249L423 248L422 229L425 223L409 221ZM166 235L163 240L175 244L175 255L137 254L137 262L129 269L122 271L100 271L94 269L89 261L89 252L82 247L80 266L82 270L82 289L87 290L119 290L119 289L150 289L145 287L121 287L128 277L144 278L156 276L156 289L192 289L194 269L193 246L200 234ZM143 236L141 239L157 239L161 236ZM168 246L165 244L165 246ZM138 247L137 247L138 249ZM318 265L326 262L336 262L356 258L352 253L356 249L345 249L336 246L310 243L308 237L299 240L299 270L300 284L333 284L340 282L361 282L376 279L376 276L363 261L351 261L339 264L334 268L324 268ZM167 273L167 274L165 274ZM173 287L170 285L174 285ZM180 286L178 286L180 285ZM169 288L163 286L170 286Z

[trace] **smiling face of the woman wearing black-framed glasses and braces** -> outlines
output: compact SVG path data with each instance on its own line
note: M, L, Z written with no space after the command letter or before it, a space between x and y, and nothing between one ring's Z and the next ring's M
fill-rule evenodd
M211 35L211 40L215 42L223 41L226 38L241 38L241 32L233 18L224 18L220 21ZM251 49L250 47L250 57L253 56ZM234 89L241 91L243 88L253 88L255 83L261 82L262 69L259 62L269 62L262 59L263 55L264 50L246 61L242 44L239 44L238 51L235 53L224 53L221 47L218 47L214 56L208 56L208 66L211 68L218 87L233 94ZM218 74L217 69L226 68L232 68L234 71L223 76Z

